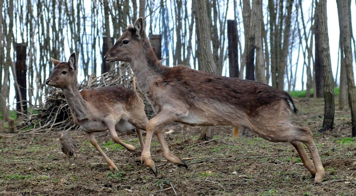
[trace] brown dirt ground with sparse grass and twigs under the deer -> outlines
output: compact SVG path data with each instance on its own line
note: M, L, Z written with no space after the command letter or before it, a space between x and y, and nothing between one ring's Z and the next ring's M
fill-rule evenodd
M356 194L356 140L350 138L350 110L336 110L335 129L319 134L323 99L295 102L300 115L291 120L312 130L325 168L323 184L313 184L289 143L273 143L253 134L234 140L232 127L222 126L214 127L218 139L198 144L202 142L198 127L172 125L164 130L175 131L166 135L166 141L173 154L190 158L185 160L188 169L164 162L154 136L151 155L158 166L157 178L140 163L140 145L134 132L119 134L121 140L137 147L134 152L113 143L106 132L96 136L120 172L110 171L84 131L71 133L83 152L78 158L66 158L61 152L57 132L0 134L0 195Z

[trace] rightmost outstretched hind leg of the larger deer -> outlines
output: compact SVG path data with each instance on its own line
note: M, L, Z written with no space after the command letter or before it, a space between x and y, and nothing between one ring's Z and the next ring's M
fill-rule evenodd
M315 167L315 183L321 183L323 181L323 175L325 172L323 164L321 164L318 149L316 148L313 140L312 132L308 127L295 127L294 131L294 141L303 142L305 146L308 147L310 155L312 156Z

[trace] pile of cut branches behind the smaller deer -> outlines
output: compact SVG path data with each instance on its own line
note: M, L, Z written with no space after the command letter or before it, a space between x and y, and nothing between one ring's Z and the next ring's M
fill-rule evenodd
M79 90L114 85L136 90L133 80L133 72L129 64L121 63L100 76L89 76L87 81L79 84ZM29 115L24 116L21 121L17 122L16 128L19 133L79 130L79 126L73 124L72 115L62 90L49 87L47 91L45 102L33 107ZM141 92L137 90L136 92L140 94L145 103L147 117L150 119L155 116L146 98Z

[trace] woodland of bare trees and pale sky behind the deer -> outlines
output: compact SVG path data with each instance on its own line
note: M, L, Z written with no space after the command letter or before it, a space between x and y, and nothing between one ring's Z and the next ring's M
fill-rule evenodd
M145 17L148 37L160 42L156 48L161 50L159 58L166 59L164 65L183 64L218 75L257 80L287 92L306 90L307 100L325 96L323 128L332 129L334 87L340 87L339 109L349 105L352 110L355 105L355 85L348 82L354 81L355 20L351 10L356 9L356 1L330 2L1 0L2 119L9 118L10 110L17 109L21 115L27 113L27 107L45 102L51 92L45 86L53 68L51 57L66 61L75 51L79 82L116 67L118 64L108 64L102 56L140 15ZM199 26L203 19L208 25ZM345 21L350 29L348 37ZM337 31L341 32L339 37L335 36ZM335 40L339 44L335 45ZM206 50L209 48L211 51ZM349 93L347 86L352 86Z

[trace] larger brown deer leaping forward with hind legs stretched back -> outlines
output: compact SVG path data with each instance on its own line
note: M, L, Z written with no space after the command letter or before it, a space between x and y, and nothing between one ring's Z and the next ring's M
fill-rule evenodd
M150 143L155 133L164 157L187 167L174 156L164 141L162 128L177 121L194 126L235 125L246 127L272 142L290 142L298 151L304 166L315 182L323 180L324 168L307 127L294 127L289 117L298 109L287 92L263 83L213 75L186 66L166 67L158 61L143 31L143 19L129 25L104 56L106 61L126 61L137 78L141 92L150 101L157 116L147 125L141 160L157 175L150 156ZM308 158L308 147L314 163Z

